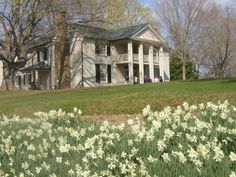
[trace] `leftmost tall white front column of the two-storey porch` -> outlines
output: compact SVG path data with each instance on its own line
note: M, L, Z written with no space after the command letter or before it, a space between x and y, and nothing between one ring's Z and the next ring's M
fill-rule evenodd
M134 57L132 41L128 42L128 68L129 68L129 84L134 83Z

